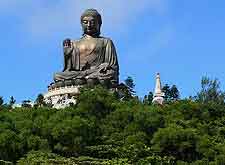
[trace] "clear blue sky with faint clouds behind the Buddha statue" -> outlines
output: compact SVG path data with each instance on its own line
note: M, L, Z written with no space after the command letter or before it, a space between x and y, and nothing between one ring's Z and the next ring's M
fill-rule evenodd
M102 14L102 36L117 48L120 81L132 76L139 96L155 74L195 95L204 75L225 89L223 0L0 0L0 96L17 102L45 93L62 70L62 41L81 36L87 8Z

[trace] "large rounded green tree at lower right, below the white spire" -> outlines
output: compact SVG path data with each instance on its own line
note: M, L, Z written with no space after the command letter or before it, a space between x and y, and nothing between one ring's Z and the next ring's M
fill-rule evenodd
M198 134L193 128L183 129L170 126L159 129L152 139L153 150L162 156L172 156L177 160L198 160L200 155L196 152Z

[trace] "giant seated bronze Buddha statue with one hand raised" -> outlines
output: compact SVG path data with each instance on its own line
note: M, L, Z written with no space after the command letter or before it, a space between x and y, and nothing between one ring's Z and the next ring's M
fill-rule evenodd
M55 84L118 84L116 49L109 38L100 36L101 24L97 10L87 9L82 14L83 36L63 41L64 69L55 73Z

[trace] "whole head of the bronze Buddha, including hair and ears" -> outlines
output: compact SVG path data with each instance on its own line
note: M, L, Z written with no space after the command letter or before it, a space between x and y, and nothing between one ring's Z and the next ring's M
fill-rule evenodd
M88 34L91 36L100 35L102 18L97 10L95 9L85 10L85 12L81 15L80 21L84 34Z

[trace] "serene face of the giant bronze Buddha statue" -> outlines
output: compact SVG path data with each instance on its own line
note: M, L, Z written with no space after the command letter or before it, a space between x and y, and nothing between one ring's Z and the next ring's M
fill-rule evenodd
M94 18L93 16L85 16L82 19L81 24L82 24L84 34L88 34L92 36L97 34L100 31L98 20Z

